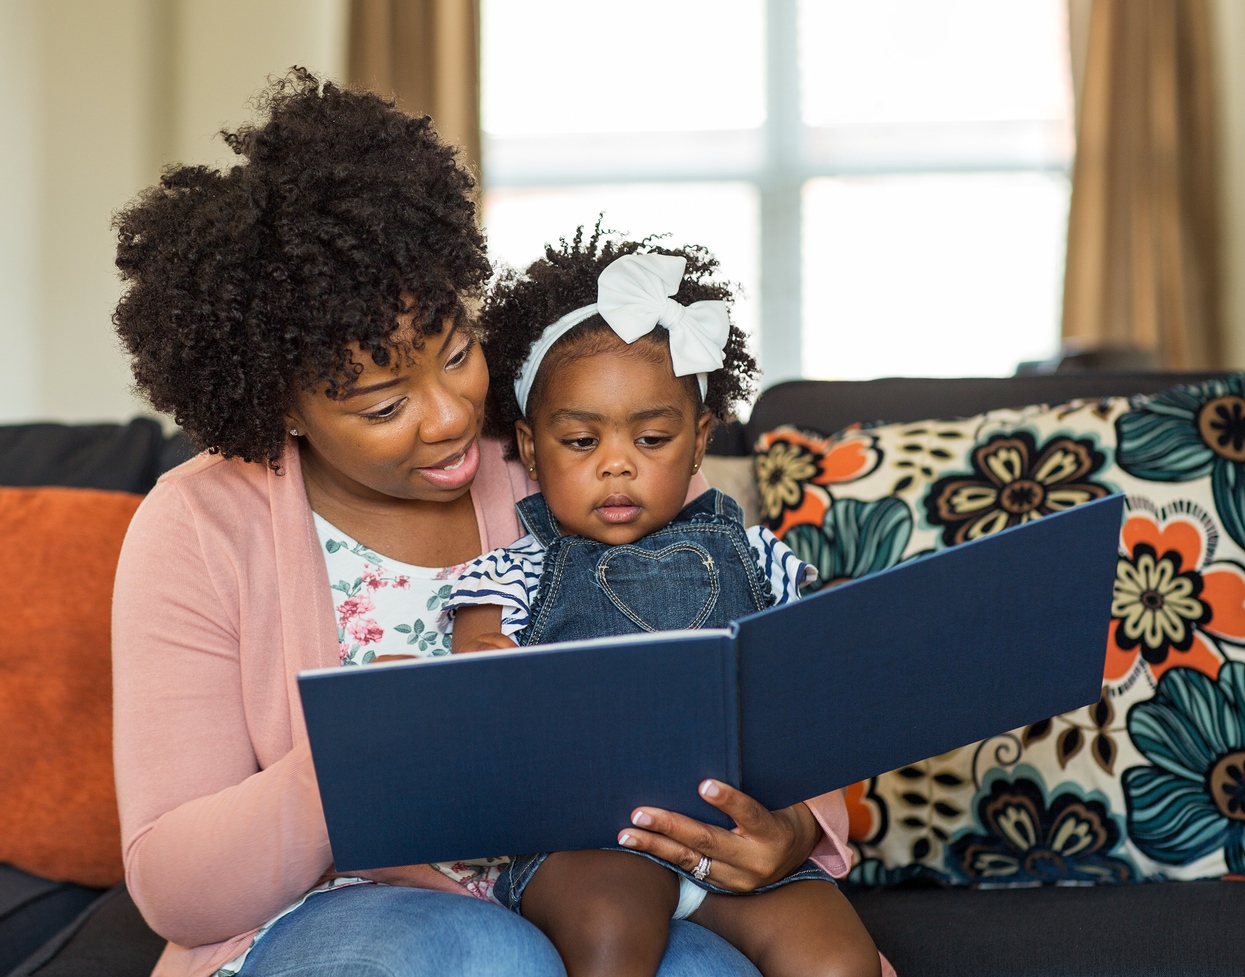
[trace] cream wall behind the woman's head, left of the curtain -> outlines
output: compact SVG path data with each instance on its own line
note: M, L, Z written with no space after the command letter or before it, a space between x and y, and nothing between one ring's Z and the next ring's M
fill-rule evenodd
M112 214L293 63L345 73L346 0L0 0L0 423L143 409Z

